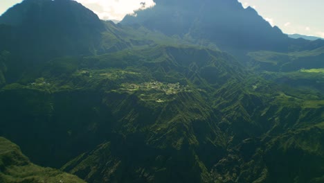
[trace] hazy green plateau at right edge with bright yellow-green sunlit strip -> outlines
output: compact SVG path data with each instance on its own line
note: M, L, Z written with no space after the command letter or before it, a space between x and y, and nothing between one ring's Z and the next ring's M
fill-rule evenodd
M291 53L249 53L251 66L262 77L277 82L289 96L308 98L314 105L323 100L323 55L323 47Z

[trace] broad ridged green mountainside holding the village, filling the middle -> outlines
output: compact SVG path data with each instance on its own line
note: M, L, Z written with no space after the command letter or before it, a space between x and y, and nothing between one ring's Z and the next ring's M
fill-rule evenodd
M271 141L323 120L321 103L279 92L226 53L192 46L55 59L34 79L3 87L1 135L42 165L76 157L63 170L88 182L236 180L226 173L233 164L252 171L240 180L262 171L273 180Z

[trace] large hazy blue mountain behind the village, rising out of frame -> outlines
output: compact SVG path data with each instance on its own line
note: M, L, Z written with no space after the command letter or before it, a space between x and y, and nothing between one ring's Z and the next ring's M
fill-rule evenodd
M189 35L229 49L283 49L287 35L237 0L156 1L156 6L128 15L121 24L141 24L167 35ZM262 41L260 41L262 40Z

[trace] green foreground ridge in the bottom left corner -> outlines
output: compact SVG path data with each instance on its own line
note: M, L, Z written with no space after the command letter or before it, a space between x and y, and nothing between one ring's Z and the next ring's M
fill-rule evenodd
M53 168L32 164L20 148L8 139L0 137L0 182L73 182L82 183L75 175Z

